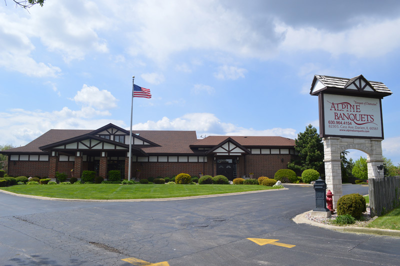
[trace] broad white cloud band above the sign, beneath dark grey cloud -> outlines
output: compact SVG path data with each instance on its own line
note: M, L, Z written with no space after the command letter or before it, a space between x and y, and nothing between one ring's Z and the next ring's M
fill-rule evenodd
M334 56L347 53L358 57L378 57L398 49L400 18L375 22L365 18L362 23L339 32L315 27L291 27L280 22L278 32L285 34L280 48L289 51L324 50ZM377 48L379 47L379 48Z

